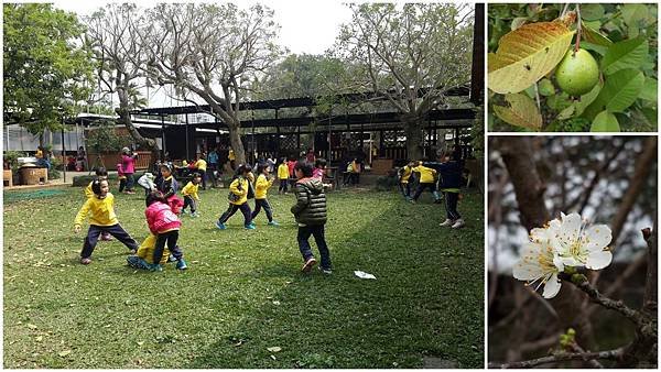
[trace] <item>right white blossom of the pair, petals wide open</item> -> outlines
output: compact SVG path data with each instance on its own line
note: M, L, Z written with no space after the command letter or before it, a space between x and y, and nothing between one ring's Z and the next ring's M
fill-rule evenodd
M600 270L610 264L610 228L606 225L588 228L578 214L561 214L561 219L552 221L549 229L553 234L551 241L565 265Z

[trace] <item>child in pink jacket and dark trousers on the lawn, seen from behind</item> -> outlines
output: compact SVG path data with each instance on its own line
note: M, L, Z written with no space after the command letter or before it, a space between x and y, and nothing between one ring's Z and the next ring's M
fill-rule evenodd
M165 243L172 256L176 259L176 269L185 270L186 262L184 261L184 252L178 248L176 241L178 239L178 230L182 226L178 217L172 211L167 200L161 193L151 193L145 200L147 223L149 230L156 236L156 245L154 248L153 264L149 267L151 271L163 271L160 262L163 258Z

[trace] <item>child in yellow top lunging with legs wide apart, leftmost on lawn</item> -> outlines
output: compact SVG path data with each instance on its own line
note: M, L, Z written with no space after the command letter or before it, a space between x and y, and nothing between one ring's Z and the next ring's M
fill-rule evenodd
M88 198L87 201L85 201L74 222L74 231L78 233L80 232L83 221L87 218L88 214L91 214L91 217L89 218L89 230L87 231L83 251L80 252L80 263L87 265L91 262L91 252L94 252L94 248L96 247L101 232L108 232L127 245L131 250L131 253L136 253L138 242L119 225L113 208L115 196L108 193L108 180L93 180L91 190L94 197Z

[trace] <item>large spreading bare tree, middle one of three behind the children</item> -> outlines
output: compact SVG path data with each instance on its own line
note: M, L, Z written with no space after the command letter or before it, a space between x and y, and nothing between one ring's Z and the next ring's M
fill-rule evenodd
M246 155L239 105L249 83L279 55L273 12L256 4L161 3L150 9L142 30L147 69L159 84L191 91L229 129L237 162Z

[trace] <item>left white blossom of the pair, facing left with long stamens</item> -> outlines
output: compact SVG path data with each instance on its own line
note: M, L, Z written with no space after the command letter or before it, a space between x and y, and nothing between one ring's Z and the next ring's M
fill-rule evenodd
M541 229L540 229L541 230ZM553 298L560 292L557 274L564 270L562 260L554 252L550 239L534 239L523 245L521 259L514 264L514 277L527 281L528 285L538 283L534 291L544 285L542 296Z

